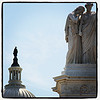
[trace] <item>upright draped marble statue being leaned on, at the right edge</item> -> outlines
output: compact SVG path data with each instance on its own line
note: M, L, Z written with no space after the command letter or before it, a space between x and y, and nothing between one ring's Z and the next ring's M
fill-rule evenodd
M92 6L92 3L86 3L87 11L83 14L79 26L84 64L96 64L96 13L91 12Z

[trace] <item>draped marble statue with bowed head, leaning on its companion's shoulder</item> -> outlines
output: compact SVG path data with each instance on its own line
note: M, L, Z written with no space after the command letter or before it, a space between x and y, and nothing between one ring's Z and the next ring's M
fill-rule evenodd
M68 42L66 64L82 63L82 40L79 35L80 15L85 11L83 6L77 7L70 13L65 25L65 40Z

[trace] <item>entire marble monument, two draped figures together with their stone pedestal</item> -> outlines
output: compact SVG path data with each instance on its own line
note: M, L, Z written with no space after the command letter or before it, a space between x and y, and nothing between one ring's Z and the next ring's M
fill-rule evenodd
M66 65L60 76L54 77L53 91L60 97L96 97L96 13L93 4L86 3L70 13L65 25L68 42Z

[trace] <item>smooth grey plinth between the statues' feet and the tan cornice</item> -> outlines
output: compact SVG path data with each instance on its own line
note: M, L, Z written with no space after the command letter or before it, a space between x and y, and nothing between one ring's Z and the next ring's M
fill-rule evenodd
M96 64L67 64L62 74L67 76L96 77Z

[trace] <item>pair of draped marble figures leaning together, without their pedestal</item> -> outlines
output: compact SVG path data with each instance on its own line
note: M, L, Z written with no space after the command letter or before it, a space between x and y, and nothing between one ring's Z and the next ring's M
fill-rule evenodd
M66 64L96 64L96 13L93 4L79 6L70 13L65 25L65 40L68 42Z

